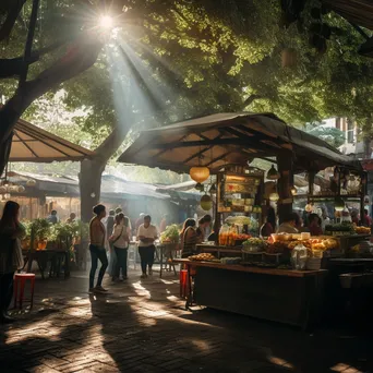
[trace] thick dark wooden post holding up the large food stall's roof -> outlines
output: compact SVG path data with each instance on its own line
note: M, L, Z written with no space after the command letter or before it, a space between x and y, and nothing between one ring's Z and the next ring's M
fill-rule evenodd
M285 217L292 212L292 195L290 189L292 186L292 155L289 152L280 153L277 156L277 167L280 178L278 179L278 219L281 224Z

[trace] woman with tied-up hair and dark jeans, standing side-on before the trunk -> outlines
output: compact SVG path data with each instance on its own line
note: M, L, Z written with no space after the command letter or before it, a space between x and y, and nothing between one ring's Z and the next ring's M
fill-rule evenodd
M89 252L92 261L92 267L89 272L89 292L105 292L107 290L103 288L103 278L108 266L108 258L106 256L105 249L106 231L101 220L106 216L106 208L104 205L97 205L93 208L93 212L96 216L92 218L89 222ZM94 287L98 261L101 262L101 267L98 273L97 285Z

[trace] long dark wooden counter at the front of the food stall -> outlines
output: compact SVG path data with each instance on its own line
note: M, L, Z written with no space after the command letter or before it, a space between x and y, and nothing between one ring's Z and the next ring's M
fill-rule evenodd
M192 300L213 309L264 318L303 329L322 315L323 282L327 270L292 270L175 260L196 270L190 284ZM190 276L189 276L190 278Z

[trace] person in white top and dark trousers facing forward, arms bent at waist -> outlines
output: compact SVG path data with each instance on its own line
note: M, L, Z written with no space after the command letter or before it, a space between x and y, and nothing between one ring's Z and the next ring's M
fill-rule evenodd
M141 278L146 278L146 269L148 274L153 275L153 263L155 245L154 241L158 238L157 228L151 225L152 217L149 215L144 216L144 224L139 227L137 240L139 242L139 254L141 258L141 269L143 272Z

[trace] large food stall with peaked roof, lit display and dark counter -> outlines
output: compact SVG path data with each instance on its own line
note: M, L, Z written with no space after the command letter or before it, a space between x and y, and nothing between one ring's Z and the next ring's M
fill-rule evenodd
M265 173L251 167L255 158L277 167ZM258 238L269 204L280 222L291 213L294 176L304 175L310 206L326 197L337 212L348 198L356 198L363 213L366 188L358 161L274 115L221 113L144 131L119 160L190 172L204 193L202 207L210 207L212 198L216 202L216 241L204 242L196 246L200 254L177 261L195 268L189 302L304 327L322 313L329 260L348 255L352 241L347 236L357 245L370 234L359 236L360 228L350 224L349 234L340 238L336 215L329 236ZM326 168L334 170L330 180L318 175ZM202 183L210 176L205 188Z

